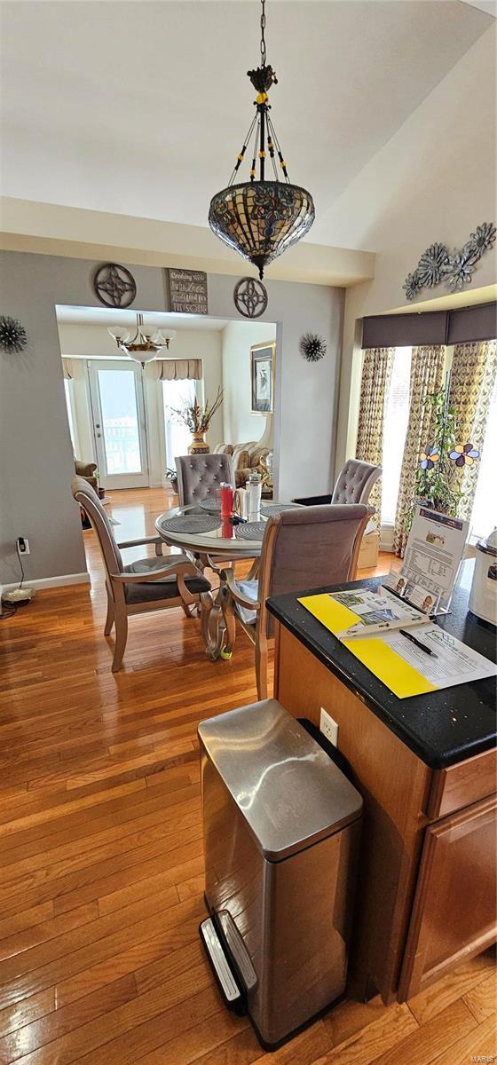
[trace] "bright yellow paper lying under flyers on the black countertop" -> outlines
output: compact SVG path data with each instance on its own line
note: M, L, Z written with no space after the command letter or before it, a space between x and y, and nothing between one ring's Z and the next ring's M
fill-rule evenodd
M359 615L337 603L327 592L320 595L304 595L299 599L299 603L334 636L361 620ZM354 637L352 640L343 640L343 643L399 699L438 690L414 666L410 666L387 643L384 643L381 636L364 639Z

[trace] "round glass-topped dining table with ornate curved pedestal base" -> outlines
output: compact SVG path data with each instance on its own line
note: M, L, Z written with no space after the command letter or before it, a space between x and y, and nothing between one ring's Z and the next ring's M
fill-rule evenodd
M201 504L175 507L155 520L155 528L165 543L181 547L197 566L212 570L219 579L219 587L201 610L202 637L211 658L231 658L233 653L234 624L229 624L227 618L231 608L226 570L242 559L252 560L244 579L253 580L258 576L266 522L272 514L292 506L262 501L260 512L239 524L222 519L214 505L204 509Z

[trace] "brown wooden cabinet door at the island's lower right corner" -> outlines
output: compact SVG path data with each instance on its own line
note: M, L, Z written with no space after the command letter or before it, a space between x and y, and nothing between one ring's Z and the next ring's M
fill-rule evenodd
M399 984L399 1001L496 938L497 797L427 830Z

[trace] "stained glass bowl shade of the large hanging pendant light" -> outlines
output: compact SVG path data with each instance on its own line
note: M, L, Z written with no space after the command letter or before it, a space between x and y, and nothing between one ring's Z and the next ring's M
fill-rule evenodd
M259 269L296 244L311 229L314 203L299 185L253 181L229 185L211 200L209 225L230 248Z

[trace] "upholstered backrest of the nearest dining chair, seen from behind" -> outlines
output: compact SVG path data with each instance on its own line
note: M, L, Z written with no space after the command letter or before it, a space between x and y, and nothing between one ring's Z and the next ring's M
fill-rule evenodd
M261 556L260 624L268 632L272 627L264 606L269 595L353 580L369 515L365 504L325 504L283 510L270 519Z

